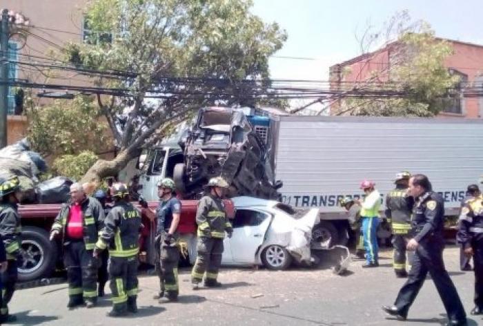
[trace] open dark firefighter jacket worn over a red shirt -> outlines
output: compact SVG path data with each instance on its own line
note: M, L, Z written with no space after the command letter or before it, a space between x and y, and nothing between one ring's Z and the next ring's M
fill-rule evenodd
M70 207L72 207L72 204L62 204L61 210L52 225L52 231L59 231L62 233L62 243L68 241L68 238L66 237L66 227L69 222ZM98 200L86 197L86 199L81 202L81 211L84 244L86 245L86 250L92 250L96 245L99 231L103 227L105 218L104 209Z

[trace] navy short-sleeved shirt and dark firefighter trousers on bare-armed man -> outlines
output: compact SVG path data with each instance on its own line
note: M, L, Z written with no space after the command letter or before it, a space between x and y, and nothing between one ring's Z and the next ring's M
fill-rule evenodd
M166 243L166 235L171 227L172 214L181 213L181 202L172 197L169 200L159 202L157 207L157 237L156 237L156 270L159 277L159 298L164 296L169 300L176 300L179 294L178 263L179 246L177 240L179 234L172 234L172 242Z

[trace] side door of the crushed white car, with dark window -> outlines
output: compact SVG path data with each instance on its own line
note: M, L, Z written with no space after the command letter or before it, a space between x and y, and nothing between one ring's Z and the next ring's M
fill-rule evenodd
M255 264L255 253L263 244L273 216L256 209L237 209L233 236L226 238L234 263Z

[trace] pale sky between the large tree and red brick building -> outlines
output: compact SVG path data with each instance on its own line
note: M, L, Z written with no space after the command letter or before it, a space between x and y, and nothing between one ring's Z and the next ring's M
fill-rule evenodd
M286 30L286 44L270 58L275 79L327 80L328 67L360 55L355 33L408 10L438 37L483 44L483 0L253 0L252 12ZM284 59L302 57L310 59Z

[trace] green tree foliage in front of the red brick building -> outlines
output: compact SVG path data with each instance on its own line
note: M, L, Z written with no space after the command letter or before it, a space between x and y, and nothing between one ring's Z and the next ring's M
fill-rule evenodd
M400 18L407 19L405 15ZM403 28L404 24L396 23L397 19L391 21L389 28L397 26L400 33L396 41L386 44L391 51L389 64L384 68L375 65L377 68L368 79L351 87L362 91L385 90L402 96L344 99L338 114L432 117L460 100L457 92L460 77L452 75L444 65L444 60L453 54L451 44L437 39L426 23ZM391 32L374 35L368 37L371 44L376 37L388 36ZM350 73L346 71L346 75Z

